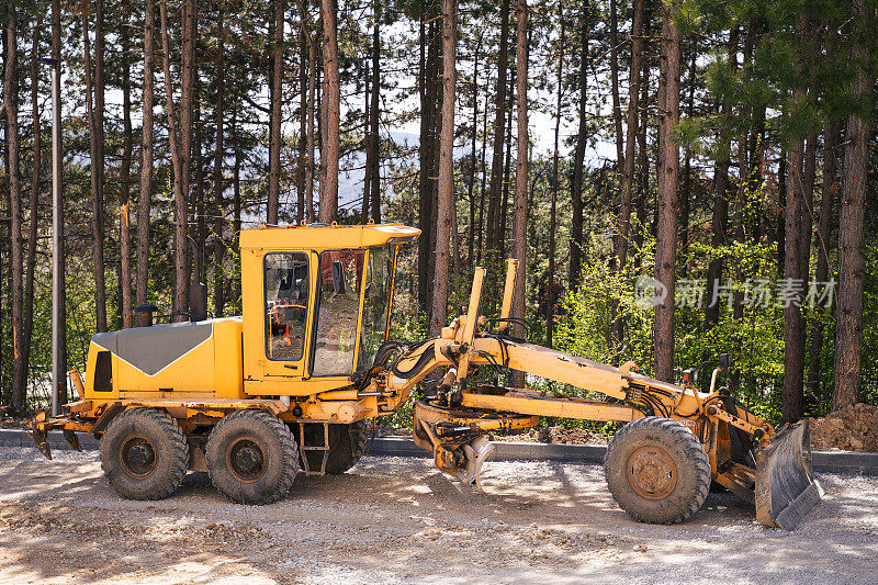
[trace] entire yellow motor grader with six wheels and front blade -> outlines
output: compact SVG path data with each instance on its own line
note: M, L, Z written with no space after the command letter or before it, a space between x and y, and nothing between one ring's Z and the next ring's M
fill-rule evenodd
M420 232L399 224L261 227L241 232L243 316L209 319L193 284L190 322L97 334L78 402L40 415L32 436L100 439L101 465L123 496L170 495L188 470L206 471L238 503L267 504L296 474L344 473L365 454L367 419L406 404L416 387L414 439L446 474L480 487L492 431L541 416L623 424L607 449L610 493L637 520L680 522L716 482L755 504L765 525L792 528L819 502L808 427L776 430L735 405L717 375L710 391L640 375L515 337L517 262L507 263L499 316L480 316L484 269L465 315L419 342L391 339L402 246ZM151 312L155 306L140 306ZM440 371L437 371L441 369ZM517 370L607 397L476 384ZM432 374L432 375L431 375ZM432 382L430 382L432 381Z

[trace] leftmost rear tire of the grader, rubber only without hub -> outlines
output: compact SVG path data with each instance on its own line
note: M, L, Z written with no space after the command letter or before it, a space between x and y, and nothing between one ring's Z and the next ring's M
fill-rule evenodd
M156 469L146 479L130 475L119 451L125 437L145 435L156 451ZM101 469L126 499L161 499L180 486L189 466L189 442L177 421L155 408L130 408L117 415L101 437Z

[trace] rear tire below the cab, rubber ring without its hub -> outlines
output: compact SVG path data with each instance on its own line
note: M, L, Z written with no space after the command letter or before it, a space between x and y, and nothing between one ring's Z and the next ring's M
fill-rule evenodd
M232 441L250 437L264 446L266 469L252 481L241 481L226 464ZM281 419L262 410L237 410L211 430L205 449L207 474L221 494L236 504L271 504L286 496L299 473L299 449Z

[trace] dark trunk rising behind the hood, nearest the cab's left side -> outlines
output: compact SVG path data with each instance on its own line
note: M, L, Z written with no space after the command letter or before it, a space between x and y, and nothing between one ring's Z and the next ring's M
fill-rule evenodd
M213 204L214 204L214 241L213 241L213 306L217 318L225 314L225 271L223 259L225 256L225 210L223 206L223 159L225 158L225 143L223 142L225 115L225 10L219 7L216 22L216 139L213 159Z

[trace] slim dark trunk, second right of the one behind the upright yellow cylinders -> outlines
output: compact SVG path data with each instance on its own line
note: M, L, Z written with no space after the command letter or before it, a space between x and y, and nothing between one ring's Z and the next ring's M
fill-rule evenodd
M582 258L584 246L583 233L583 184L585 175L585 149L588 145L588 33L592 20L589 18L588 1L582 3L579 15L579 126L576 131L576 146L573 151L573 178L571 180L570 196L572 220L570 228L570 290L579 288L582 277ZM520 114L519 114L520 115Z

